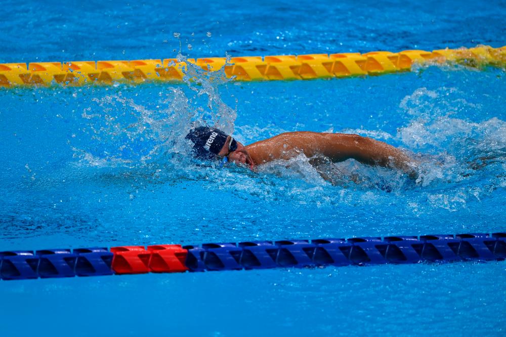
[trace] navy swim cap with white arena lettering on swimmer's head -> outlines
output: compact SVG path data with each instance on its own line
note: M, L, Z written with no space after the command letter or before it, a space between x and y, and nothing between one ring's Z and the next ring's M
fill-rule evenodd
M191 129L186 139L193 142L193 154L200 159L213 159L225 145L229 135L220 129L208 126L200 126ZM232 140L231 149L237 149L237 142Z

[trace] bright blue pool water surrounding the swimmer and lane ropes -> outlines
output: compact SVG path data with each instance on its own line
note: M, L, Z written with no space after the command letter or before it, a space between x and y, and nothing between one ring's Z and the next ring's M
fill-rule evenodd
M504 2L8 2L2 11L0 62L171 58L180 45L206 57L506 44ZM199 76L201 85L0 90L0 250L506 230L504 70ZM423 165L411 181L349 161L332 168L334 185L304 158L258 173L199 165L182 140L196 119L243 143L359 133ZM505 275L492 262L0 281L0 325L9 336L502 335Z

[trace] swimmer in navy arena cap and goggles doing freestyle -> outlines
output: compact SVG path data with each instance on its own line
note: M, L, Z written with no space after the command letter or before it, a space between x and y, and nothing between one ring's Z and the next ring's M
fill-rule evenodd
M357 134L285 132L244 146L220 129L200 126L190 130L186 139L193 143L193 155L199 159L221 159L254 171L258 165L303 153L313 166L325 160L355 159L362 164L397 168L416 178L417 161L383 141Z

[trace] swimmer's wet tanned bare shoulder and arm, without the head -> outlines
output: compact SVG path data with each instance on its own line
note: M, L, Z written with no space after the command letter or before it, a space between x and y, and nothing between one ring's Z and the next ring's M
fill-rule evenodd
M257 164L288 159L303 152L307 157L321 154L333 162L355 159L368 165L399 168L415 176L414 161L387 143L357 134L287 132L246 147Z

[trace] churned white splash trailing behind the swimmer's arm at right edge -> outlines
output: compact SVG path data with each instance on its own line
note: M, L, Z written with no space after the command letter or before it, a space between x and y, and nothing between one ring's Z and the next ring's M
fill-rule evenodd
M398 129L403 146L424 153L416 182L436 208L455 211L469 200L481 202L504 180L506 122L493 117L474 121L483 107L455 88L418 88L400 108L413 118ZM452 185L458 188L451 188Z

